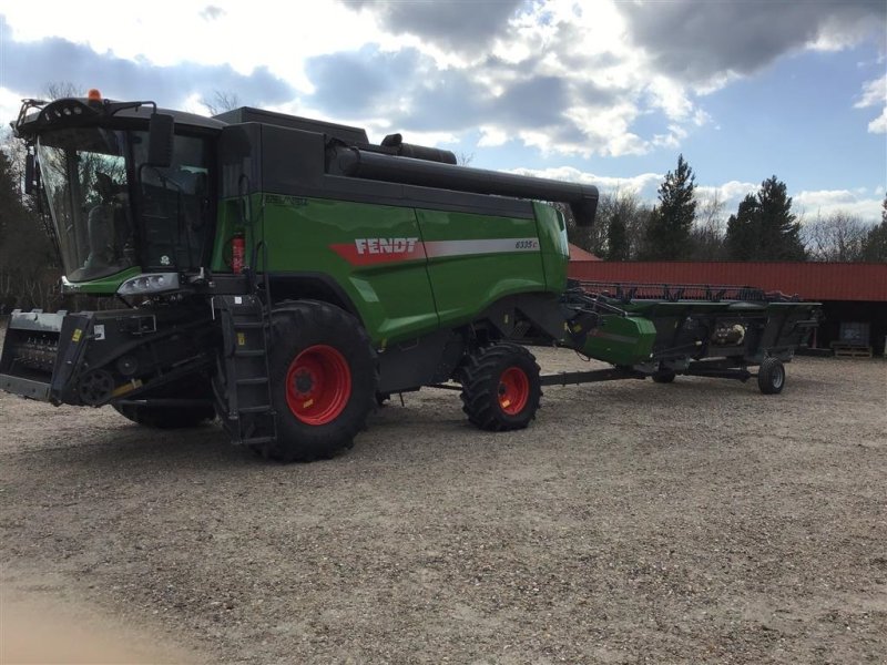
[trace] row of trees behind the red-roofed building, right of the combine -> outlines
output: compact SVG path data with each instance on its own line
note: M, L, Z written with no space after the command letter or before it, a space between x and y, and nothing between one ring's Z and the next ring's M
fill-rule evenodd
M699 194L683 155L660 184L655 204L633 191L605 193L591 228L577 226L562 209L570 242L606 260L887 262L887 196L879 224L845 212L802 224L774 175L725 218L717 194Z

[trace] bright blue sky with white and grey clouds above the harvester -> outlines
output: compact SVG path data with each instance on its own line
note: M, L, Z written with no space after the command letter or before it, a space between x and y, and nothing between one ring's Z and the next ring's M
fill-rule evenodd
M726 214L880 219L887 0L154 0L0 6L0 121L52 84L400 132L471 166L655 201L683 154Z

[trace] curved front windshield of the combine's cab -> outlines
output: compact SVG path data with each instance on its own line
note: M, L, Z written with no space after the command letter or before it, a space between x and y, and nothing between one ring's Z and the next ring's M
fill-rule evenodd
M70 129L43 134L38 161L71 282L136 265L129 205L126 132Z

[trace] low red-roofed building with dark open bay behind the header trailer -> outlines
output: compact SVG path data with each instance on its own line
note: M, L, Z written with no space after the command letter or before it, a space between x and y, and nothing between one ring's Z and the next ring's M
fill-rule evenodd
M823 304L815 345L885 351L887 264L571 260L584 282L752 286Z

